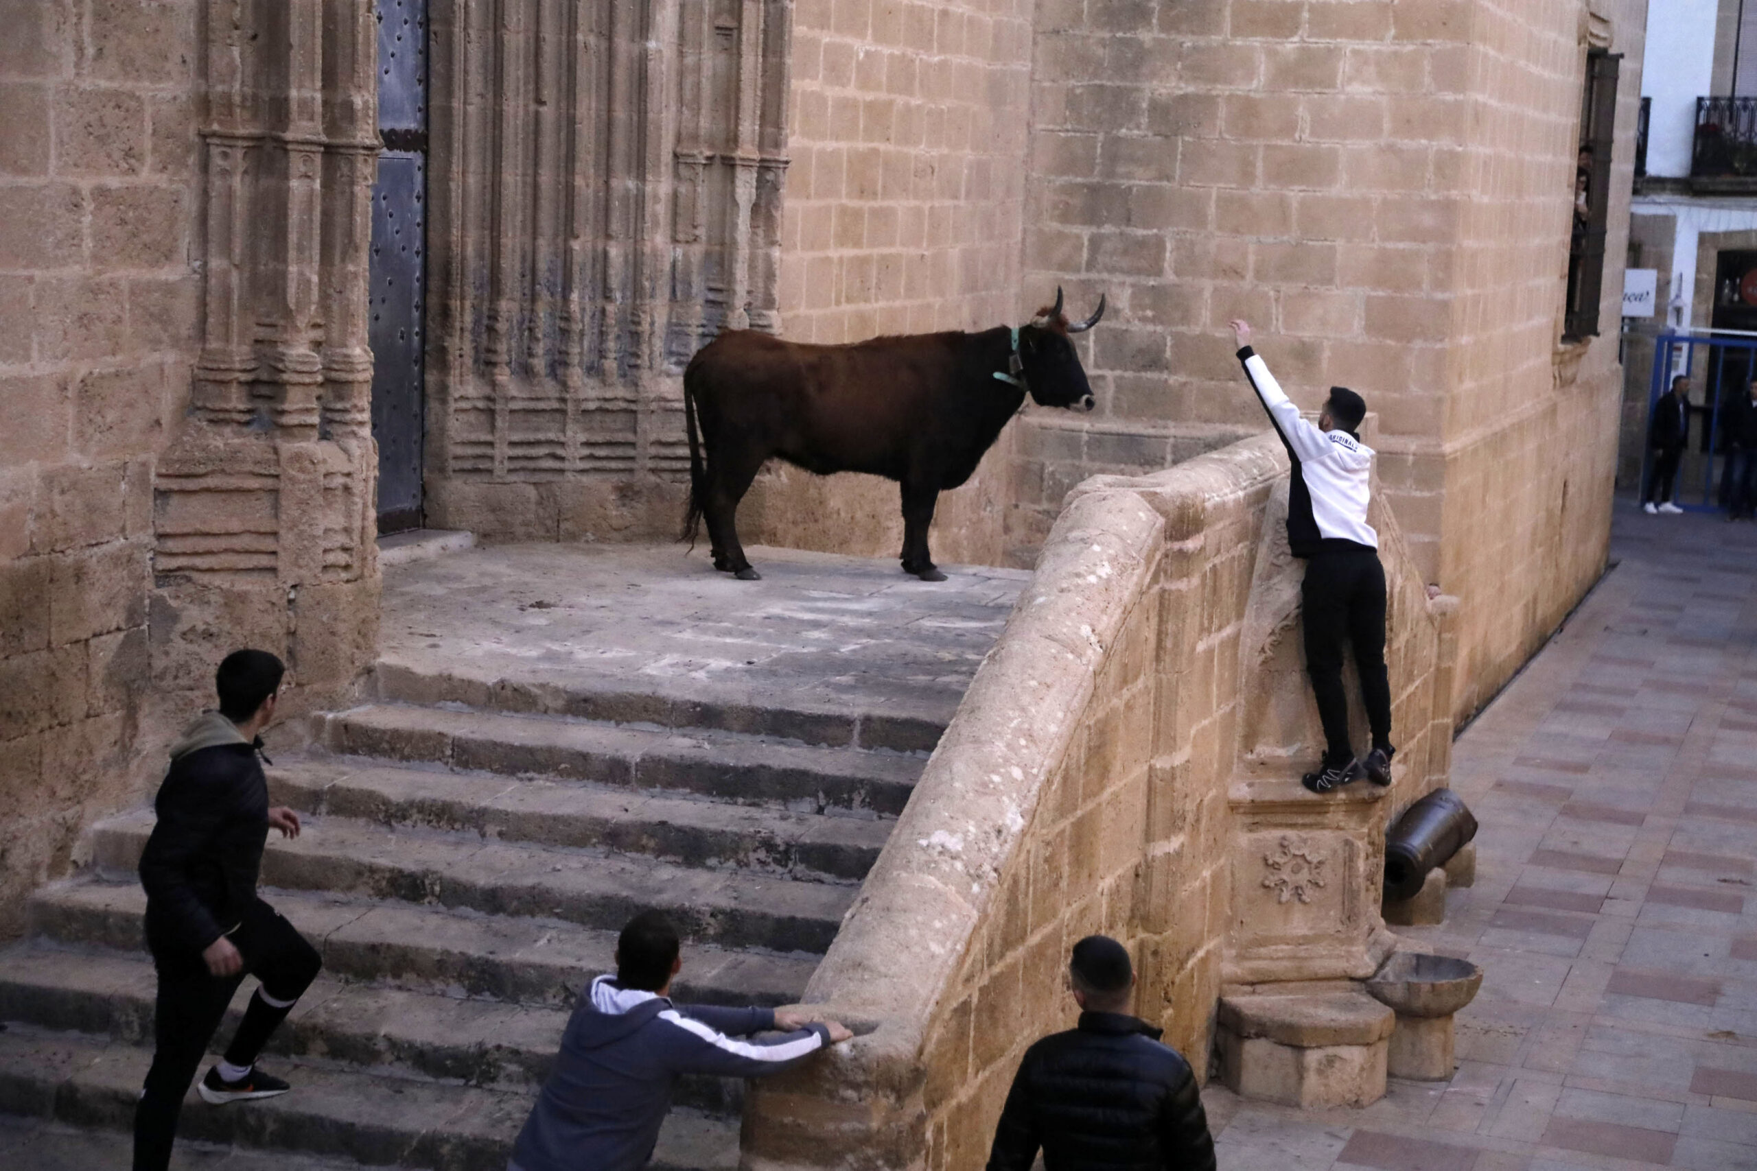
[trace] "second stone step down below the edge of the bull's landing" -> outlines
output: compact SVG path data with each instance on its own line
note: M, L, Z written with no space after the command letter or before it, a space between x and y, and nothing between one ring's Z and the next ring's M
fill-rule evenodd
M878 860L894 825L871 816L791 813L589 781L383 767L353 757L274 767L269 792L278 804L380 825L467 830L545 846L603 846L806 880L859 881Z

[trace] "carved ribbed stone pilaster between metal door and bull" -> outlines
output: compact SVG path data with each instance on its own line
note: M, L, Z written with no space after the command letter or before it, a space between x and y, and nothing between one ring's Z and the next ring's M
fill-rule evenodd
M680 374L778 328L785 0L432 0L429 514L675 504ZM633 500L633 504L629 504Z

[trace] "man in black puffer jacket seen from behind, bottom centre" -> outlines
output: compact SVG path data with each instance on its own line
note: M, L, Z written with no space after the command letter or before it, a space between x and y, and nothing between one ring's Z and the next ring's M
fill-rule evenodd
M1128 1015L1135 971L1109 936L1074 945L1081 1024L1024 1052L987 1171L1214 1171L1195 1074L1160 1031Z

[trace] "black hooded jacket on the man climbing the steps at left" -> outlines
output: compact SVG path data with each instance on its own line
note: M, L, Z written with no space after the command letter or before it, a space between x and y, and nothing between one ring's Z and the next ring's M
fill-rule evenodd
M269 783L257 750L216 711L170 750L158 787L158 823L141 851L146 939L202 952L239 925L257 902L257 873L269 839Z

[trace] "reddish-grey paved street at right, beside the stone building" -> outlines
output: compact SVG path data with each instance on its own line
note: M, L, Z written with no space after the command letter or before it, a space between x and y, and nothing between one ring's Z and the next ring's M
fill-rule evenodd
M1450 1083L1298 1113L1209 1088L1221 1171L1757 1167L1757 527L1620 499L1615 569L1458 739L1478 881Z

